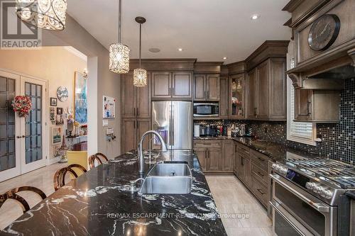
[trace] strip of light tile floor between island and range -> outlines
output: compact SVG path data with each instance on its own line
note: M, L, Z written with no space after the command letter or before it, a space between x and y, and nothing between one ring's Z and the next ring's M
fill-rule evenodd
M266 209L236 176L209 175L206 179L229 236L273 235Z

